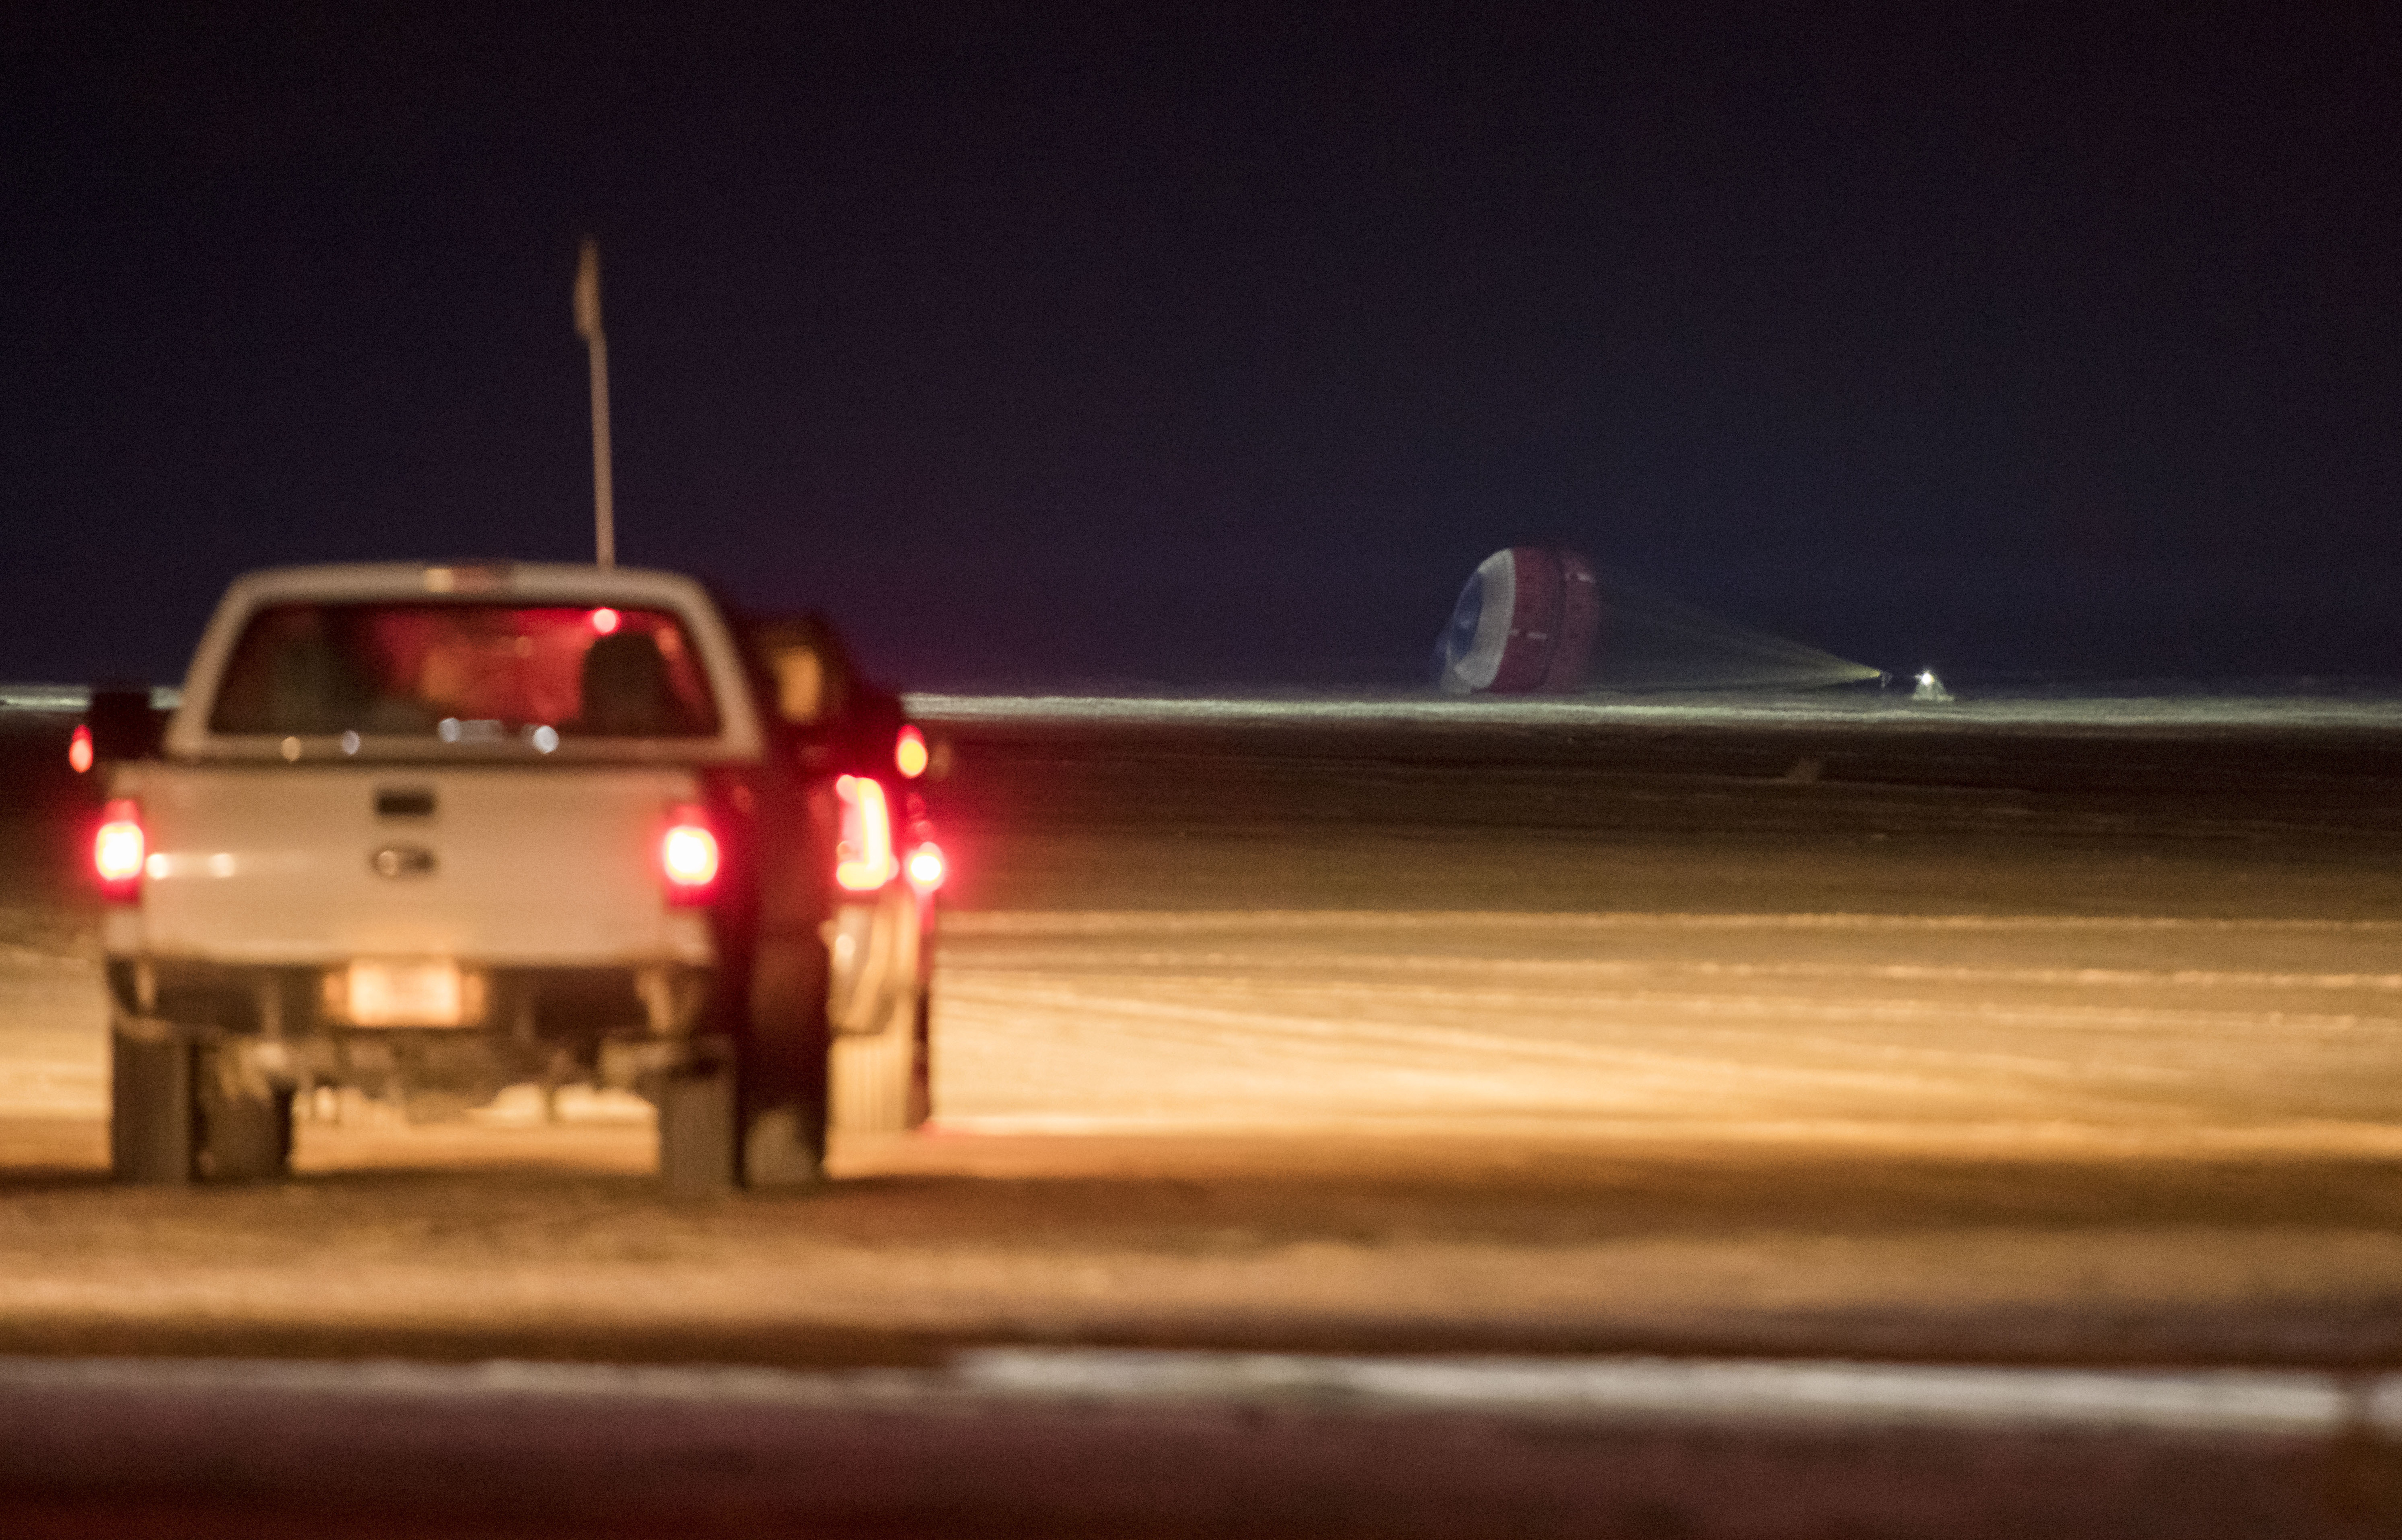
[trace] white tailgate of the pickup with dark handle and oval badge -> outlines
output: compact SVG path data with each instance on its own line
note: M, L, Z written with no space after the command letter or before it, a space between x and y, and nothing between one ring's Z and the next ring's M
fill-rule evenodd
M644 766L142 766L156 956L706 961L658 836L697 795Z

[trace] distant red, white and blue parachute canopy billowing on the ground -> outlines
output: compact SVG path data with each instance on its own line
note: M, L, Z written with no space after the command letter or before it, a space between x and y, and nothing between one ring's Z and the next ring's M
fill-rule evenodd
M1602 627L1593 562L1554 545L1511 545L1484 557L1434 644L1446 694L1581 690Z

